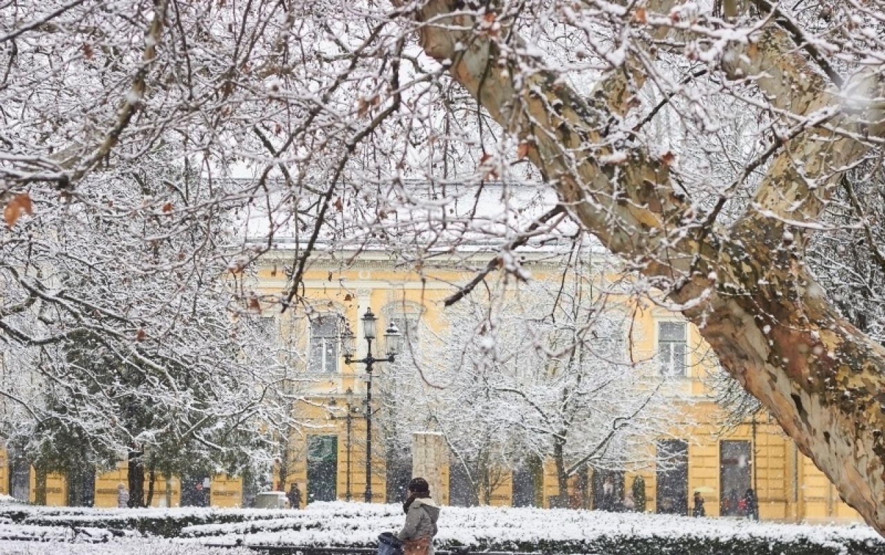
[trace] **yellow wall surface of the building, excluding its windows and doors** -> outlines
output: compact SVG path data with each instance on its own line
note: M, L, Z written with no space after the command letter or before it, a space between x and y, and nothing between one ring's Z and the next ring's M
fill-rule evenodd
M339 256L339 259L341 257ZM287 277L279 271L280 267L289 266L290 254L287 251L271 253L264 258L255 276L255 290L262 294L277 294L287 286ZM527 268L536 276L554 275L559 272L558 266L547 263L533 263L531 258L526 261ZM484 266L484 260L476 261L477 267ZM424 324L434 331L441 331L443 320L440 311L443 298L452 292L451 283L464 282L473 274L456 272L446 269L444 261L439 267L421 267L401 269L391 265L384 253L366 253L347 269L340 263L322 259L314 261L314 266L304 276L304 296L318 311L336 311L350 322L354 334L362 337L360 316L371 306L379 317L378 332L383 333L387 324L385 310L417 310ZM598 275L596 284L603 285L618 276ZM630 342L631 356L634 360L645 360L654 357L658 350L658 322L680 320L672 312L660 307L640 306L628 298L612 298L610 304L621 305L621 308L635 315ZM269 305L267 315L273 317L281 333L281 341L287 341L298 349L305 349L308 341L309 327L306 316L295 310L289 311L285 318L279 316L278 307ZM704 341L693 326L687 327L688 368L686 375L673 379L668 395L673 395L674 403L683 404L685 419L674 423L671 437L683 438L689 443L689 467L687 495L690 499L696 488L703 490L705 510L709 516L720 514L720 442L725 440L742 440L752 442L752 481L757 489L759 511L766 520L857 520L858 515L839 500L838 495L826 477L797 450L794 444L784 437L779 428L765 421L757 422L756 426L745 423L723 435L721 427L714 419L716 407L706 400L704 378L715 368L715 360L710 356ZM362 356L365 343L358 339L357 356ZM377 353L376 353L377 354ZM308 374L306 369L299 370ZM352 389L358 400L365 395L365 382L361 377L365 374L362 365L344 365L339 361L336 371L330 374L312 375L315 382L308 391L303 392L310 403L296 406L300 420L309 424L304 429L296 430L290 438L290 455L286 482L299 484L304 499L309 499L312 484L307 480L307 454L305 443L307 436L337 436L336 464L336 496L346 497L347 483L350 482L350 497L362 500L366 489L366 420L362 415L351 420L350 436L346 431L346 420L341 418L344 403L343 392ZM309 374L308 374L309 375ZM329 401L335 399L335 411L329 410ZM688 399L688 400L687 400ZM377 428L376 428L377 429ZM384 447L379 436L373 436L373 502L382 502L385 498ZM650 437L650 444L658 438ZM348 447L350 446L350 466L347 464ZM0 452L0 491L8 492L9 473L5 453ZM96 505L115 506L116 486L125 483L125 463L96 480ZM449 467L445 464L440 472L447 477ZM654 453L650 451L649 464L636 467L626 474L627 490L636 475L643 475L646 483L646 508L656 511L656 493L658 489L654 466ZM273 483L280 487L279 474L274 472ZM181 499L181 483L177 478L172 481L173 506ZM58 476L50 478L48 503L60 505L65 499L65 484ZM576 480L570 482L569 494L577 495ZM32 473L32 499L34 495ZM559 495L555 469L552 461L543 464L543 480L540 484L541 500L544 506L550 505L551 497ZM512 504L512 480L505 479L497 484L488 499L481 502L489 505ZM165 482L158 480L154 505L165 500ZM443 503L448 499L441 499ZM212 481L212 505L235 506L242 504L242 480L219 476Z

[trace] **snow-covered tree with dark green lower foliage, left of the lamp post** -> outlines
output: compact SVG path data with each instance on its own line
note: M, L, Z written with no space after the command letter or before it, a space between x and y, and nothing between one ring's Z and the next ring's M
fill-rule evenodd
M38 384L27 399L7 397L29 403L7 430L11 445L39 475L128 459L140 506L146 473L152 488L158 473L239 472L271 458L268 420L287 420L291 399L273 402L285 370L275 337L259 325L258 299L231 287L222 236L212 238L230 212L166 227L172 208L127 208L133 187L173 194L185 210L208 197L192 173L133 169L57 220L29 222L27 248L4 243L0 273L18 306L0 326L10 366Z

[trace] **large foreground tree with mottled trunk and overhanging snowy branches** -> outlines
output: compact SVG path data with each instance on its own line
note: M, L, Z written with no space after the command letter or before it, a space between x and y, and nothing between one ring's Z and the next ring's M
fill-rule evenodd
M186 229L181 263L214 273L225 257L198 254L219 238L212 215L258 214L260 239L231 238L223 266L288 235L285 310L318 248L386 243L418 271L444 254L520 275L519 247L541 231L589 233L885 531L885 350L853 301L881 292L881 206L860 195L881 182L883 13L876 0L3 4L0 330L39 346L100 327L130 353L139 329L163 335L142 314L169 291L140 298L142 314L57 294L56 254L112 264L87 214L155 222L130 227L138 248L124 251L150 276L181 270L162 247ZM198 201L132 177L184 158ZM491 218L476 204L490 180ZM527 189L536 202L514 193ZM467 241L500 257L474 267ZM844 272L812 271L815 251ZM76 329L29 328L19 316L38 300Z

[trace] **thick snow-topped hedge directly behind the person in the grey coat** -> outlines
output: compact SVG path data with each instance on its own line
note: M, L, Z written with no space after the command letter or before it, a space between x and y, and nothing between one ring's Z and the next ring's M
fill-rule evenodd
M316 503L285 519L183 530L204 543L373 547L404 520L400 505ZM550 551L618 555L885 555L872 528L692 519L569 509L443 507L438 551ZM262 528L258 531L258 528ZM212 537L206 537L212 536Z

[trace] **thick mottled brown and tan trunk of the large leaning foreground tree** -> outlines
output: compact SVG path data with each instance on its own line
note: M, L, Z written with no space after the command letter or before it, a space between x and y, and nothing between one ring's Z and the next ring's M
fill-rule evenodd
M425 22L419 35L427 55L527 143L528 158L575 220L631 267L673 284L670 299L722 365L766 405L843 499L885 533L885 350L835 311L799 256L802 223L820 215L838 171L863 156L864 144L826 126L804 127L784 143L750 210L720 227L718 209L698 211L674 193L663 161L626 144L626 159L604 158L612 147L600 130L612 112L627 110L627 72L601 81L588 104L555 74L520 73L496 42L510 30L481 32L459 5L431 0L417 14ZM761 75L756 84L778 108L816 114L812 123L858 128L842 112L821 112L836 105L839 91L827 88L772 25L754 36L752 47L735 45L727 57L733 66L723 63L725 69ZM507 41L513 50L522 44L518 36ZM629 69L641 82L641 69ZM881 85L863 74L846 86L857 97L882 95ZM881 114L865 117L882 121ZM881 136L881 127L863 131ZM676 228L693 233L669 235Z

